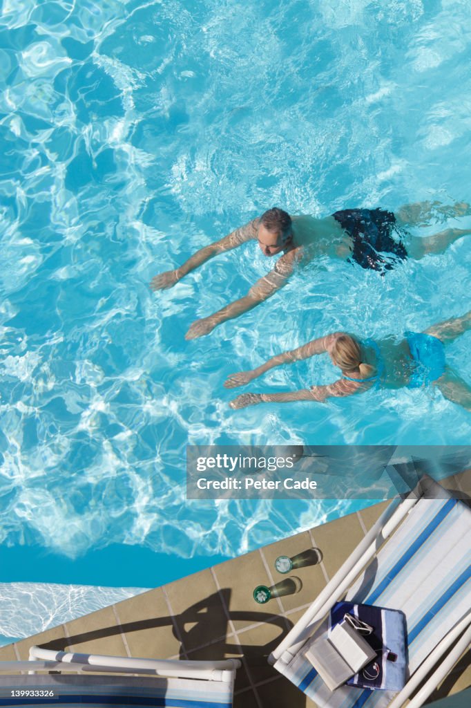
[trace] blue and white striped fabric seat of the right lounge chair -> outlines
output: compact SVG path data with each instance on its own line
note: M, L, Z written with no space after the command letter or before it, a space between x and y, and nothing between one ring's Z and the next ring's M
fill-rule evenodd
M405 612L412 674L469 610L470 578L471 510L452 498L421 499L349 590L347 600ZM315 637L326 627L323 624ZM288 667L276 668L320 708L383 708L392 700L394 694L388 691L344 686L330 692L302 652Z

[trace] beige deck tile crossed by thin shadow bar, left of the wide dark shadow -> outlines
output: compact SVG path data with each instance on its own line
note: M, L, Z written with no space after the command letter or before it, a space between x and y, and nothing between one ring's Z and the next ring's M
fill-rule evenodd
M180 656L181 644L175 636L162 588L122 600L115 610L131 656L161 659Z

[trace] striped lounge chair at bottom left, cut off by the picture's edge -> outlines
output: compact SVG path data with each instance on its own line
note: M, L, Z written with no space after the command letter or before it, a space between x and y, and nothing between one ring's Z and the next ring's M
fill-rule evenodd
M33 661L3 661L0 706L54 708L231 708L240 662L155 661L64 653L33 647ZM74 673L33 674L33 671ZM26 675L11 672L28 671ZM108 672L106 675L91 675ZM144 676L113 675L144 673Z

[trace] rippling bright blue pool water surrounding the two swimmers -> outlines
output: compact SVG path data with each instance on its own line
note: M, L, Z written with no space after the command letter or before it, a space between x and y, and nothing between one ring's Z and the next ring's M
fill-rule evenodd
M248 244L173 290L149 290L153 275L272 205L321 216L471 200L467 1L334 5L4 2L7 547L74 558L127 544L209 564L355 507L187 503L187 443L468 442L470 414L430 389L231 411L222 383L328 331L401 336L463 314L469 237L385 278L325 260L190 343L192 321L273 262ZM416 233L447 227L460 222ZM447 350L467 382L470 343L467 333ZM334 375L319 358L252 390Z

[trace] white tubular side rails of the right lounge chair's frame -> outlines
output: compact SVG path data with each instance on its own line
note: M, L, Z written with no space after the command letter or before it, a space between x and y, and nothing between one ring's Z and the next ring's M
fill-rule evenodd
M288 665L296 656L298 651L305 644L318 623L324 619L327 612L330 612L332 607L337 603L354 579L359 576L359 573L373 559L380 546L383 544L392 532L400 525L402 520L410 513L417 502L428 496L431 487L436 486L436 482L428 476L424 476L417 487L403 501L399 497L392 500L388 508L380 515L380 518L375 525L368 531L361 543L356 547L354 552L349 556L347 561L335 573L332 580L327 583L324 590L318 595L318 598L313 602L308 610L304 613L301 619L296 622L291 632L286 635L281 644L269 656L269 663L280 668L281 665ZM463 636L458 643L453 647L453 650L448 651L454 641L458 639L460 634ZM429 654L426 660L411 676L402 691L392 700L389 708L400 708L407 702L412 692L417 688L424 678L436 666L443 656L446 656L440 666L431 675L421 690L414 696L412 702L409 702L408 708L419 708L435 688L446 678L449 671L453 668L456 661L460 658L463 651L467 649L471 641L471 611L460 622L455 624L455 627L450 629L448 634L443 637L442 641ZM448 653L447 653L448 652Z

